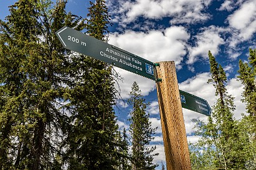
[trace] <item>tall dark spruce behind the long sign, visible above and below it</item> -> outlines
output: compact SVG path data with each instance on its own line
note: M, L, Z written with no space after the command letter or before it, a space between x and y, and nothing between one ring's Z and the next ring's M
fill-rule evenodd
M106 41L108 16L105 1L90 2L85 29L99 40ZM69 169L115 169L120 145L116 125L115 88L111 66L88 56L71 53L72 66L67 86L70 127L65 140L64 161ZM72 70L75 66L75 72Z

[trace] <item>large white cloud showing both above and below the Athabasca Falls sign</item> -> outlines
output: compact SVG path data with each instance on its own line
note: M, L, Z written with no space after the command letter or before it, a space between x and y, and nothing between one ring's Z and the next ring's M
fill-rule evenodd
M124 34L110 34L110 44L123 50L141 56L146 60L175 61L176 68L181 68L181 61L186 55L186 42L189 38L184 27L169 27L165 30L151 30L149 32L126 31ZM155 89L154 81L143 78L120 68L115 68L121 77L121 97L127 99L131 86L136 81L143 92L143 96Z

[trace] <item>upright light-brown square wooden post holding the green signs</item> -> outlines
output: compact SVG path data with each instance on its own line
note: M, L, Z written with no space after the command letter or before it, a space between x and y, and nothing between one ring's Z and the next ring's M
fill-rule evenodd
M191 169L186 129L174 61L159 62L156 66L156 83L164 153L168 170Z

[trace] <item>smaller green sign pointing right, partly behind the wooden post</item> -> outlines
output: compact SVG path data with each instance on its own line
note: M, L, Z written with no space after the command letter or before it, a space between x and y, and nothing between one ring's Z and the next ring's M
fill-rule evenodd
M181 105L183 108L193 110L207 116L211 115L212 110L206 100L181 90L179 90L179 94L181 96Z

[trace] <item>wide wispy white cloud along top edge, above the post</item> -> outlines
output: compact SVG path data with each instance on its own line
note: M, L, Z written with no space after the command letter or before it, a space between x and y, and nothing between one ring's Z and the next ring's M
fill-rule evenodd
M111 9L111 15L115 16L114 21L125 26L135 22L138 17L145 19L161 19L163 17L172 17L171 23L196 23L210 18L209 14L204 12L211 4L212 0L136 0L136 1L111 1L108 7Z

